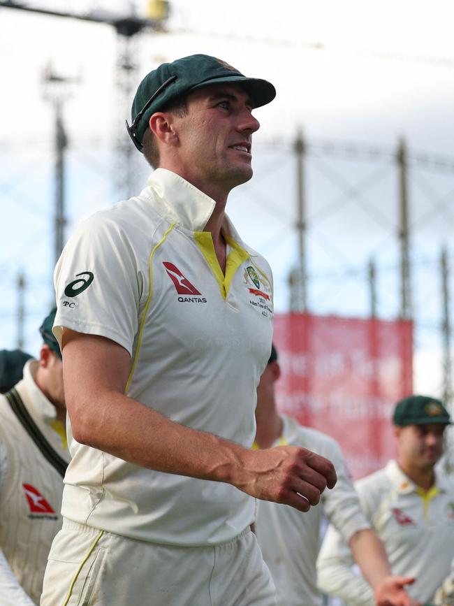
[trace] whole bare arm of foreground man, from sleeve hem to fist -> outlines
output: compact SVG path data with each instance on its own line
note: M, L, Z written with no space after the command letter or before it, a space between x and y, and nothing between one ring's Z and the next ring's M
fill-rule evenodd
M125 396L129 354L117 343L66 329L62 347L66 405L78 442L156 471L233 484L302 512L335 485L332 463L307 449L251 451Z

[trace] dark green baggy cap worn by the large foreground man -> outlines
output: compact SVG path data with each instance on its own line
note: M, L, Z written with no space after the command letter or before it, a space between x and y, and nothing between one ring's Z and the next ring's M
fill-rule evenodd
M178 96L222 82L240 84L256 108L270 103L276 96L276 89L268 80L247 78L236 68L210 55L190 55L173 63L163 63L150 71L137 89L131 110L133 123L128 127L133 143L141 150L149 118L155 112L165 110Z

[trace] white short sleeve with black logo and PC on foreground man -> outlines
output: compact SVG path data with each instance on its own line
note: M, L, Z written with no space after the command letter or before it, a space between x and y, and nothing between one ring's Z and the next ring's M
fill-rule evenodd
M131 355L138 329L140 272L133 242L102 213L82 223L54 271L57 315L54 334L64 328L103 336Z

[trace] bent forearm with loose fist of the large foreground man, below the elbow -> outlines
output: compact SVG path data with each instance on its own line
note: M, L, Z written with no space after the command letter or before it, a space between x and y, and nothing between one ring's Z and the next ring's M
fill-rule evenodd
M75 440L152 470L226 482L256 498L301 510L309 504L297 492L314 505L327 483L331 487L335 482L330 462L306 449L251 451L178 424L115 391L91 392L85 412L83 403L77 409L73 417L70 410ZM299 482L293 493L286 489L292 473Z

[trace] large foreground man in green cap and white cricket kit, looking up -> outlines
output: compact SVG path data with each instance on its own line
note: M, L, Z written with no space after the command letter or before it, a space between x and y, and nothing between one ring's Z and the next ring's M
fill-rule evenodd
M272 276L225 206L252 176L251 110L274 94L207 55L149 73L129 127L149 185L59 260L73 459L43 606L272 605L251 496L307 511L335 484L305 449L250 449Z

